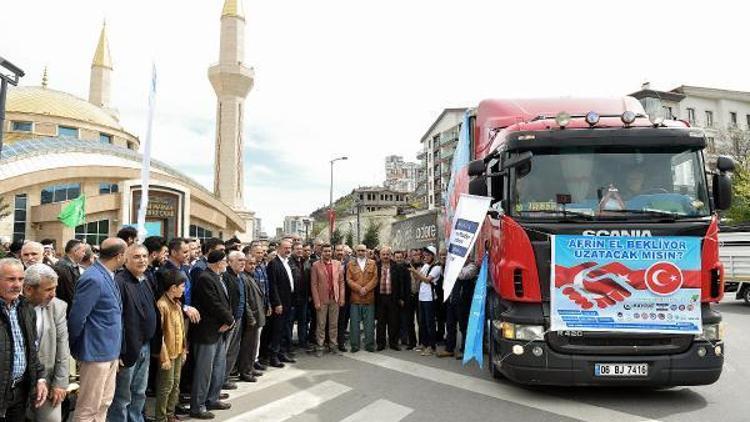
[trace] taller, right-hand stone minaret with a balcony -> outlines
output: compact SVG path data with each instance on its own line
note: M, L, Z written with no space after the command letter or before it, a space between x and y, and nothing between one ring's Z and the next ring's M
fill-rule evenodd
M243 115L245 97L253 88L253 70L244 65L245 16L242 0L225 0L221 12L219 63L208 68L216 91L216 162L214 193L235 211L243 199Z

